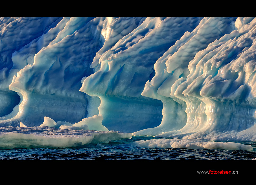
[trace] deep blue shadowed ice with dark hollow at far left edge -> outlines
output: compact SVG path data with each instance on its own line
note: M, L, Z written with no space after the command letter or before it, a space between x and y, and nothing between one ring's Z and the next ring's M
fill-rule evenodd
M60 17L1 17L0 18L0 117L10 114L20 102L16 92L9 90L12 77L25 67L23 61L15 65L12 54L39 39L54 27Z

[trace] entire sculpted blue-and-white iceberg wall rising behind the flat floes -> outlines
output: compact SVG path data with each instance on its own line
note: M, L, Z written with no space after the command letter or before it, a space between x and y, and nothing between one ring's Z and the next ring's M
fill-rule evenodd
M255 28L254 17L2 17L0 127L256 141Z

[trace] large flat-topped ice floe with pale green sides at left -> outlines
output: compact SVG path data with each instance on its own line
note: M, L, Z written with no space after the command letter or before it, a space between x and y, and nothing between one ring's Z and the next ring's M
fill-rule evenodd
M131 138L131 133L60 130L53 127L1 127L0 148L68 148Z

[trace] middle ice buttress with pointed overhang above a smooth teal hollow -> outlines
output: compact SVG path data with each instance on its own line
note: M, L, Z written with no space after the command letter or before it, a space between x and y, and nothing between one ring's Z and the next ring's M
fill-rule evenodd
M99 96L99 114L108 129L134 132L156 127L162 119L162 103L141 96L147 80L154 77L154 63L177 39L192 31L198 17L147 17L111 49L94 58L97 70L80 91ZM96 60L97 59L97 60ZM98 61L98 62L97 62Z

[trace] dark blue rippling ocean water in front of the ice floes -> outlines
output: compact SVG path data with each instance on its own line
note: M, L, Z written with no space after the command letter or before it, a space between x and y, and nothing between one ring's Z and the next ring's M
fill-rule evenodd
M251 145L253 151L142 148L130 143L154 137L135 136L132 139L111 141L108 144L77 146L73 148L16 148L0 150L2 161L251 161L256 158L256 142L239 142Z

